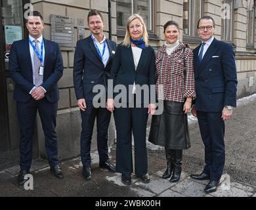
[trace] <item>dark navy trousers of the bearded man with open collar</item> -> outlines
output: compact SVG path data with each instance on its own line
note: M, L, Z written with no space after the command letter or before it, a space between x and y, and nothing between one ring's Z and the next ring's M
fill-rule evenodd
M93 127L97 125L97 146L100 163L108 160L108 126L110 124L111 112L106 108L95 108L93 101L86 101L85 112L81 111L82 131L81 131L81 162L84 166L91 165L91 138Z

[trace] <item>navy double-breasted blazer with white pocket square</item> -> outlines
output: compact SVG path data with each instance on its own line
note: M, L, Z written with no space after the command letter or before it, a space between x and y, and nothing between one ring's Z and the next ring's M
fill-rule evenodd
M194 49L196 79L196 110L221 112L224 105L236 107L237 75L232 45L213 39L200 63Z

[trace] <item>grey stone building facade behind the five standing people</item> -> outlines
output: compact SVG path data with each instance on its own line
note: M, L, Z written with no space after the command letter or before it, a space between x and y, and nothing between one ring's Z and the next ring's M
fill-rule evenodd
M33 9L41 12L45 20L43 36L51 39L51 14L74 18L75 43L77 28L83 28L85 37L89 35L87 14L90 9L102 12L106 27L104 33L109 37L108 0L31 0ZM120 43L125 35L127 16L141 14L147 24L150 45L158 49L163 44L163 25L175 20L181 28L181 41L191 48L200 44L196 24L202 15L213 16L216 22L215 37L231 43L236 51L238 72L238 98L256 93L256 56L255 56L255 1L254 0L112 0L111 1L112 40ZM58 85L57 132L60 158L79 155L79 136L81 119L73 85L73 62L75 48L62 48L64 75ZM44 140L40 121L37 120L37 140L39 156L44 156ZM95 129L96 130L96 129ZM94 134L95 138L96 135ZM110 125L110 144L114 142L114 122ZM93 148L95 146L95 140Z

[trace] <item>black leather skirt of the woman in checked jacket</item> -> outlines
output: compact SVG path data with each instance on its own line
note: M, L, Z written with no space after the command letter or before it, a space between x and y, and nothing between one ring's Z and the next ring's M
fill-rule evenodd
M163 101L163 113L152 116L148 141L173 150L190 148L188 116L183 112L184 103Z

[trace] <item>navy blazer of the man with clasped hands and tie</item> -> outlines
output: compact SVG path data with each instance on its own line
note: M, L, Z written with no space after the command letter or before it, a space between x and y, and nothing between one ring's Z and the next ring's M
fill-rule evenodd
M45 62L43 72L43 87L47 93L45 97L51 103L59 99L58 80L63 74L62 54L58 43L43 39L45 50ZM14 80L14 100L28 102L32 95L30 91L33 85L33 69L30 56L30 43L28 38L12 43L9 57L9 73Z

